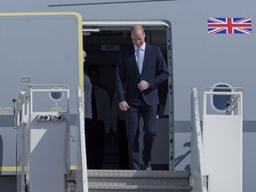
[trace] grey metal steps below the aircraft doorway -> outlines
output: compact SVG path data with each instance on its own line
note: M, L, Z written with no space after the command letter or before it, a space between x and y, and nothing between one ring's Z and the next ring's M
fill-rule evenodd
M88 170L89 192L188 192L189 172L185 171L132 171Z

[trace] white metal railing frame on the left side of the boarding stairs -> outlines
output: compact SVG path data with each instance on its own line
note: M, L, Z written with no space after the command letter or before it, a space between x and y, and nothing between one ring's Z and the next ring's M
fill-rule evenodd
M41 95L43 95L43 99L49 100L48 96L51 92L56 93L63 93L65 95L65 100L63 106L64 108L61 108L60 111L51 111L49 110L47 106L47 111L37 111L37 103L38 99L42 99ZM49 94L48 94L49 93ZM47 96L47 98L45 98ZM77 163L76 164L76 172L73 172L76 174L75 180L76 180L76 191L81 192L88 192L88 179L87 179L87 164L86 164L86 151L85 151L85 137L84 137L84 103L83 103L83 92L81 91L80 87L77 87L77 128L79 132L78 140L76 141L76 154L77 154ZM40 101L40 100L39 100ZM51 99L50 99L51 101ZM52 101L51 101L52 102ZM57 101L55 101L57 102ZM40 104L42 106L42 104ZM45 108L44 108L45 109ZM49 116L47 119L40 119L37 114L41 114L44 116ZM52 116L57 116L60 114L60 116L63 116L61 114L65 114L65 118L63 119L53 119ZM33 117L34 116L34 117ZM64 121L68 124L68 130L67 130L67 145L70 145L68 142L68 138L70 137L70 131L69 131L69 87L68 85L63 84L55 84L55 85L48 85L48 84L34 84L29 85L28 89L26 91L20 92L19 98L15 100L14 103L14 128L17 130L17 139L20 143L19 148L17 147L18 156L16 156L16 166L18 172L16 172L17 175L20 175L20 181L17 182L17 188L21 192L25 192L26 188L28 187L29 183L29 152L30 148L28 146L29 143L29 129L31 127L31 122L35 116L38 117L36 120L38 122L50 122L51 121ZM50 119L49 119L50 118ZM69 146L66 147L66 150L68 151ZM67 170L68 174L70 174L69 178L72 178L71 175L71 166L70 166L70 159L69 159L69 152L67 152ZM70 170L69 170L70 169ZM73 174L72 173L72 174ZM70 179L69 179L70 180ZM18 184L20 183L20 184ZM70 187L70 186L69 186ZM68 188L67 188L68 189ZM69 191L69 190L68 190ZM70 190L71 191L71 190Z

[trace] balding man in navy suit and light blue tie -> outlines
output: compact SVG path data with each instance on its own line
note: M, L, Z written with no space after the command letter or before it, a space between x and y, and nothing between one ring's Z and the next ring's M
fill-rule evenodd
M169 73L160 48L145 43L146 35L142 26L134 25L131 36L133 45L121 50L117 59L116 90L119 108L126 113L131 169L140 170L139 136L142 116L142 169L151 170L151 151L156 137L159 104L157 87L168 79Z

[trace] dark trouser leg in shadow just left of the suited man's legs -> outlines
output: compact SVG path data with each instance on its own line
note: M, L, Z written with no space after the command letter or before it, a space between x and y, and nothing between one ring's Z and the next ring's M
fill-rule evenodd
M119 168L120 170L129 169L129 154L128 154L128 140L126 135L126 127L124 120L118 120L117 123L117 142L118 142L118 155L119 155Z

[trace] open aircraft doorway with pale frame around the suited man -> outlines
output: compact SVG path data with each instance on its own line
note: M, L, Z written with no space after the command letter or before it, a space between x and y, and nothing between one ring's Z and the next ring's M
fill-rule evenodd
M90 68L99 69L99 86L108 91L110 104L112 104L115 92L116 59L122 48L132 44L130 31L135 23L139 22L83 22L84 50L87 53L84 70L88 72ZM160 46L169 72L172 74L171 28L162 21L140 22L140 24L145 29L146 42ZM173 127L170 126L172 125L173 113L169 111L169 108L172 108L173 101L172 98L167 97L167 95L172 95L172 90L168 90L168 87L172 87L171 85L168 86L172 79L169 79L168 82L159 87L160 105L157 113L157 130L159 132L156 133L156 144L152 159L152 166L155 170L173 170L174 145L172 140L174 140L174 134L170 133L173 132ZM169 114L172 114L172 116L169 116ZM102 169L120 169L119 145L112 128L111 126L110 129L106 129ZM141 131L140 137L142 137L142 133ZM169 140L171 140L171 143ZM142 138L140 143L143 143Z

